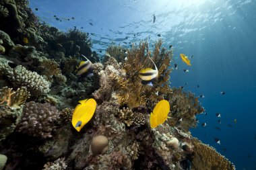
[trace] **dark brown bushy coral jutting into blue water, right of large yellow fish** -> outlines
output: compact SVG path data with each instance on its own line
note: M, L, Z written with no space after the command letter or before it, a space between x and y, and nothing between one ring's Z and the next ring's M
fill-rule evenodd
M171 119L168 122L172 126L179 126L185 131L197 126L195 115L203 112L198 97L191 92L186 93L182 89L174 88L169 101Z

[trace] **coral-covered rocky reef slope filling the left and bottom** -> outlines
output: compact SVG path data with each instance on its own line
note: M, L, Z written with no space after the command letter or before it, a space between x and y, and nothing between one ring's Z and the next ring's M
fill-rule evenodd
M214 148L191 136L203 112L193 93L171 88L172 50L162 41L125 49L109 46L102 63L88 33L61 32L38 22L28 1L0 1L0 169L235 169ZM84 54L93 77L77 77ZM152 87L138 77L158 67ZM77 101L94 98L96 112L77 132ZM161 99L170 119L150 128ZM180 121L182 119L182 121Z

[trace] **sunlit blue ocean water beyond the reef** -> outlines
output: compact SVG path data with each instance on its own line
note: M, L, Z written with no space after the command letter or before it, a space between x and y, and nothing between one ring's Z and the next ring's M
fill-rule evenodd
M31 0L30 7L60 30L89 32L92 50L102 55L110 44L129 47L148 40L152 47L161 38L166 48L172 45L172 66L179 69L172 71L170 86L205 96L200 101L206 114L197 116L193 136L214 146L236 169L256 169L255 0ZM193 55L191 67L181 53Z

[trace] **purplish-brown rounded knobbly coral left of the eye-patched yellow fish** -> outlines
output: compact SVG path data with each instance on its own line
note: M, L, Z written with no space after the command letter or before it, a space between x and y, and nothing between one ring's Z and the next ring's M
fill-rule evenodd
M51 138L59 120L59 112L49 103L26 103L17 130L30 136Z

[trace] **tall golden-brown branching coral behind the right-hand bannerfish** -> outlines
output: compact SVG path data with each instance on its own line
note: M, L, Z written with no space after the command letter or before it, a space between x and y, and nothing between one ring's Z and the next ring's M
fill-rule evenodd
M131 50L128 50L127 60L123 65L127 76L119 80L119 83L125 82L125 85L121 85L119 90L121 105L128 105L129 108L138 108L139 105L146 105L147 99L156 102L162 99L164 95L171 93L171 89L168 87L171 69L168 66L172 58L172 51L166 51L164 48L161 49L161 45L162 41L156 42L153 52L152 59L156 63L159 72L158 80L154 83L154 87L142 85L138 77L141 68L153 68L152 63L148 59L151 56L148 42L141 42L138 47L133 45Z

